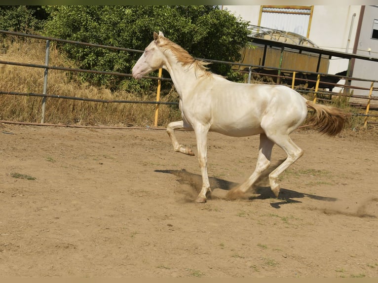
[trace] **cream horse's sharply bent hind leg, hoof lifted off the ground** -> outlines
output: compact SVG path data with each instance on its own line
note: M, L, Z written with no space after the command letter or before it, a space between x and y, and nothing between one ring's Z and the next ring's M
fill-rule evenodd
M269 174L270 188L274 195L278 198L278 194L280 192L280 186L276 182L278 177L303 155L303 150L297 144L295 144L287 134L274 134L269 135L268 137L279 147L281 147L287 154L285 161Z

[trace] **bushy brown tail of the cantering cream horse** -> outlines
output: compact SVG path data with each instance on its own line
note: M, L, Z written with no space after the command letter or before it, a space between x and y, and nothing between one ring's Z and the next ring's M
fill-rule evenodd
M335 137L349 121L349 115L339 108L315 104L309 100L306 101L306 105L315 110L310 113L306 124L310 124L311 127L322 134Z

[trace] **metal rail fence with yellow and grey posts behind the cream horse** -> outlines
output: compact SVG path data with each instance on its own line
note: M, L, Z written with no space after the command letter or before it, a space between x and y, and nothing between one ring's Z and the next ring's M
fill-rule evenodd
M100 48L106 48L106 49L112 49L112 50L121 50L126 52L137 52L137 53L143 53L142 50L136 50L136 49L130 49L130 48L122 48L122 47L114 47L114 46L108 46L108 45L101 45L101 44L93 44L93 43L86 43L86 42L80 42L80 41L73 41L73 40L66 40L66 39L60 39L60 38L54 38L54 37L47 37L47 36L40 36L40 35L29 35L29 34L23 34L23 33L16 33L11 31L3 31L0 30L0 33L6 34L6 35L15 35L15 36L21 36L21 37L29 37L29 38L35 38L35 39L41 39L46 41L46 52L45 52L45 64L44 65L37 65L37 64L28 64L28 63L19 63L19 62L10 62L10 61L2 61L0 60L0 64L6 64L6 65L15 65L15 66L23 66L23 67L29 67L29 68L40 68L44 69L44 77L43 77L43 91L42 93L24 93L24 92L14 92L10 90L0 90L1 95L20 95L20 96L32 96L32 97L41 97L42 98L42 105L41 105L41 124L45 123L45 107L46 107L46 99L52 98L52 99L69 99L69 100L79 100L79 101L88 101L88 102L96 102L96 103L134 103L134 104L155 104L155 116L154 116L154 126L157 126L157 120L158 120L158 107L159 105L178 105L177 102L161 102L159 100L160 96L160 83L162 80L166 81L172 81L170 78L164 78L161 77L161 69L159 70L159 75L157 77L155 76L143 76L144 78L157 80L157 92L156 92L156 101L134 101L134 100L101 100L101 99L90 99L90 98L80 98L80 97L72 97L72 96L61 96L61 95L54 95L54 94L47 94L47 82L48 82L48 70L60 70L60 71L70 71L70 72L88 72L88 73L97 73L97 74L106 74L106 75L115 75L115 76L123 76L123 77L131 77L132 74L129 73L121 73L121 72L112 72L112 71L95 71L95 70L85 70L85 69L75 69L75 68L67 68L67 67L58 67L58 66L50 66L49 65L49 51L50 51L50 42L62 42L62 43L69 43L69 44L79 44L79 45L85 45L85 46L91 46L91 47L100 47ZM252 82L252 76L253 76L253 68L268 68L266 66L259 66L259 65L250 65L250 64L241 64L241 63L235 63L235 62L225 62L220 60L209 60L209 59L202 59L202 58L195 58L211 63L221 63L221 64L229 64L231 66L238 66L238 69L240 67L247 68L248 71L244 71L246 74L248 74L248 78L246 78L246 83ZM296 73L299 72L306 72L311 74L317 75L317 80L315 83L315 89L297 89L301 93L313 93L314 96L314 102L316 102L317 95L318 94L330 94L330 95L337 95L337 96L348 96L352 98L358 98L358 99L365 99L367 100L367 106L366 106L366 112L365 114L358 114L359 116L365 116L365 122L364 126L366 127L368 123L368 117L370 116L378 116L378 115L370 115L369 109L371 105L372 100L378 100L378 98L374 97L372 95L373 91L378 90L378 88L374 88L374 83L378 82L376 80L366 80L361 78L353 78L353 77L346 77L347 83L345 85L339 85L339 84L332 84L333 86L339 86L343 87L346 91L344 93L334 93L334 92L327 92L327 91L321 91L319 90L319 82L322 75L328 75L325 73L314 73L314 72L308 72L308 71L299 71L299 70L283 70L278 68L268 68L270 70L277 70L278 73L276 75L260 72L259 75L266 75L270 77L276 77L278 78L278 82L280 80L290 79L292 82L291 87L295 89L296 85L296 79L301 80L300 78L296 78ZM242 72L242 71L241 71ZM288 77L287 73L291 73L291 76ZM285 74L286 73L286 74ZM350 86L351 80L360 80L360 81L370 81L371 87L370 88L362 88L362 87L353 87ZM349 94L349 89L358 88L363 89L369 92L367 96L355 96ZM324 99L323 99L324 100ZM4 121L3 121L4 122ZM369 123L375 123L375 122L369 122Z

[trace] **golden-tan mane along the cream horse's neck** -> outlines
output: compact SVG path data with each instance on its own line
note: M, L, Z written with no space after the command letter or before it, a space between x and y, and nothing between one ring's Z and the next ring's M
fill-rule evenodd
M208 71L209 68L206 67L211 63L194 59L187 50L170 39L164 37L164 40L160 40L158 45L159 47L170 50L183 66L194 66L195 72L200 71L201 76L210 76L213 74L211 71Z

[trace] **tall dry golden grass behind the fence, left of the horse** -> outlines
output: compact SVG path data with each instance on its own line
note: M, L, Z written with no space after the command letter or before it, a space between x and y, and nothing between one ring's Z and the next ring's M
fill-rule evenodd
M44 65L45 42L9 39L1 42L0 60ZM49 65L76 66L61 54L54 44L50 46ZM43 69L0 65L0 90L26 93L43 92ZM49 70L47 94L102 100L155 101L156 93L134 94L125 91L111 92L69 79L66 71ZM171 90L161 94L161 101L176 101L177 93ZM0 119L18 122L40 122L42 98L0 95ZM151 126L155 105L129 103L95 103L47 98L45 122L53 124ZM177 106L159 106L158 124L165 126L178 120Z

